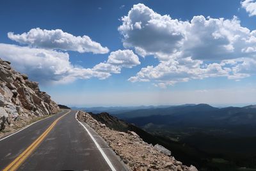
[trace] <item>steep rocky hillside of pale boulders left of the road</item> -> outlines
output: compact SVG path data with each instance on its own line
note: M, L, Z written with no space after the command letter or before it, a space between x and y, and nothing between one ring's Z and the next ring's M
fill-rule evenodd
M37 82L28 80L0 59L0 131L22 127L31 120L54 114L60 108L51 96L40 91Z

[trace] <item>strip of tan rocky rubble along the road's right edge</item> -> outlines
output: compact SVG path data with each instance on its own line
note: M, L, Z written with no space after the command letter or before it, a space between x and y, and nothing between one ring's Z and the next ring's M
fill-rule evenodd
M171 156L171 152L161 145L147 144L133 131L120 132L109 129L90 114L79 111L77 119L87 123L108 142L120 156L129 170L197 170L192 165L187 167Z

